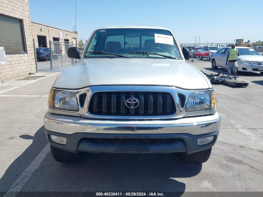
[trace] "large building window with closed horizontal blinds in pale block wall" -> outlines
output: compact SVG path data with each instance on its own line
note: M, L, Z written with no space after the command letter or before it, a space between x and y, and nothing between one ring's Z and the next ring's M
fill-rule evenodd
M6 54L26 52L21 20L0 15L0 45Z

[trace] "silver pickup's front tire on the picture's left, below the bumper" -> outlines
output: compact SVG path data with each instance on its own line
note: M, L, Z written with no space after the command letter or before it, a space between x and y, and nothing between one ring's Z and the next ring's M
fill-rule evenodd
M83 155L83 152L79 152L75 154L72 152L61 150L59 148L55 148L51 145L50 148L51 148L52 156L57 162L63 162L63 163L75 162L79 160Z

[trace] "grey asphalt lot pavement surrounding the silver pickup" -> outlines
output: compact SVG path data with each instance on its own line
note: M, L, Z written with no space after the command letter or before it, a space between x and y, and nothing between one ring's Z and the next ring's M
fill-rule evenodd
M206 60L187 61L206 73L220 71ZM39 70L45 71L49 61L40 63ZM184 163L177 154L104 153L86 153L69 164L55 162L43 116L58 75L57 70L40 72L34 76L45 77L12 79L0 87L0 196L7 191L177 191L179 195L263 191L263 76L259 73L239 74L238 80L249 82L246 88L213 86L221 128L203 164Z

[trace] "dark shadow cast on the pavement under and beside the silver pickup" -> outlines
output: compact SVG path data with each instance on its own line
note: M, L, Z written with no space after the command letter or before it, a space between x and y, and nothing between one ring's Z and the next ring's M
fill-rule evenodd
M44 126L5 171L0 191L9 190L46 146L43 132ZM32 139L30 135L20 137ZM49 152L21 191L176 191L180 196L186 185L177 178L196 176L201 169L201 164L182 162L177 154L85 153L78 162L59 163Z

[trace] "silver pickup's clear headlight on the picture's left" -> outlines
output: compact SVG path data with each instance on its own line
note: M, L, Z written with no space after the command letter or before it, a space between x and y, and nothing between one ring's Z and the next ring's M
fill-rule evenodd
M78 110L77 98L75 94L68 91L55 91L54 106L63 110Z

